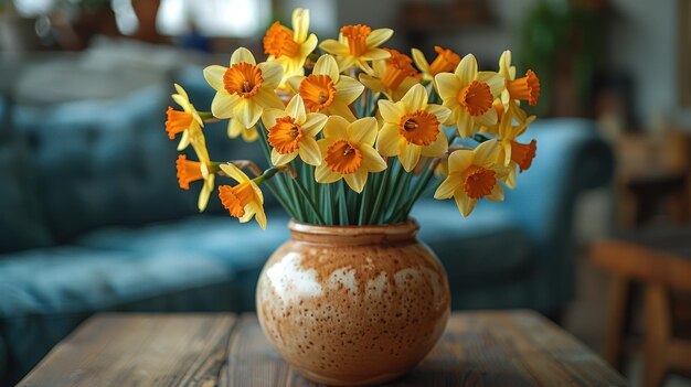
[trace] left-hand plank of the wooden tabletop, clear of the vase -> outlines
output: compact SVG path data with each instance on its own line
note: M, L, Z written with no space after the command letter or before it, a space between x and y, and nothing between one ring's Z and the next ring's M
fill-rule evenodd
M100 314L19 386L215 386L234 322L230 314Z

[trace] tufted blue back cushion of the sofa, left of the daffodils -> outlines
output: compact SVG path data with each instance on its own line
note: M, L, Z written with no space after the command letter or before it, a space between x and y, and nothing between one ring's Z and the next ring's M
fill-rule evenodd
M117 100L14 107L13 127L29 139L34 191L57 241L195 212L195 197L177 186L166 99L162 87L149 87Z

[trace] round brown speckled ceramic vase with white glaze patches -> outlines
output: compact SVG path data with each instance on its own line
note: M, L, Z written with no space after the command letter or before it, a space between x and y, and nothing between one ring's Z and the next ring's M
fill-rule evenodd
M289 228L259 277L257 313L290 365L317 383L360 386L395 379L425 357L450 300L415 222Z

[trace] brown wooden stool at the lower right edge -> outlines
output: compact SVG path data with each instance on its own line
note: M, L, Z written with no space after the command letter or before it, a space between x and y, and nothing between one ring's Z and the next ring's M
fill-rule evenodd
M660 386L669 370L691 372L691 340L676 334L670 297L691 292L691 229L650 229L596 244L593 261L612 273L605 358L619 363L629 283L644 287L644 385Z

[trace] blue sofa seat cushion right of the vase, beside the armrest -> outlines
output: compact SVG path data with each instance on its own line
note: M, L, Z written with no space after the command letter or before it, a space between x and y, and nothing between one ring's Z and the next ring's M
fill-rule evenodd
M421 225L419 238L444 264L451 287L506 281L534 264L530 237L501 203L478 203L464 218L454 201L423 200L412 216Z

